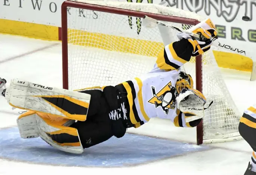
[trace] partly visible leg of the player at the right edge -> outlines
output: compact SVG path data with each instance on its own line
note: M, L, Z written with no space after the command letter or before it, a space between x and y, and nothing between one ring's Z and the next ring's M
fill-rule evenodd
M256 175L256 109L249 107L240 119L238 130L253 149L252 157L244 175Z

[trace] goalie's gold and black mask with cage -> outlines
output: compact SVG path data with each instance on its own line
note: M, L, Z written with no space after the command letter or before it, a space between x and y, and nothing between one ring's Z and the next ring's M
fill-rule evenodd
M194 86L192 77L186 72L180 72L176 82L176 95L178 96L181 93L182 89L191 89Z

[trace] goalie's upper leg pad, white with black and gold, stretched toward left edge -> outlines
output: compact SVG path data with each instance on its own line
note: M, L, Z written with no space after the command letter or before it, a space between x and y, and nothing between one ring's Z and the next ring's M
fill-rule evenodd
M3 95L15 108L85 121L90 94L12 79Z

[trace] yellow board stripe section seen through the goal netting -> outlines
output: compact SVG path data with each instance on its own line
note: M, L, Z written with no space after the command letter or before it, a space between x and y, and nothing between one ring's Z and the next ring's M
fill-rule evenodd
M102 33L68 29L68 42L80 46L96 47L104 50L133 53L144 56L157 57L164 44L156 41L139 40L136 38L121 37ZM140 47L139 49L135 49ZM154 49L144 49L147 48Z

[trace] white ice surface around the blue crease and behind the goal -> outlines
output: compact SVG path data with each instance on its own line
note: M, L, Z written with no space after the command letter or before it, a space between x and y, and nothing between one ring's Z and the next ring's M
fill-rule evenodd
M41 50L42 48L44 49ZM34 52L35 50L37 51ZM222 69L222 73L232 98L241 112L255 103L256 82L249 81L250 72ZM21 78L62 87L61 42L0 34L0 77L7 80ZM0 104L0 128L15 126L19 110L12 110L4 98L0 98ZM136 129L136 132L189 143L196 141L195 128L175 128L170 122L157 119ZM212 149L206 151L124 168L36 165L0 159L0 174L244 174L252 155L252 150L244 140L210 144L210 147Z

